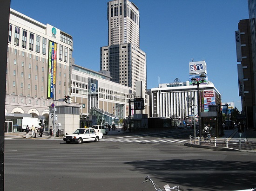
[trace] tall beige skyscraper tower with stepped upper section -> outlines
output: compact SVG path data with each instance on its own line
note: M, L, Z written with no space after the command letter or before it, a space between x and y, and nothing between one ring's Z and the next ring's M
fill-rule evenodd
M108 46L101 47L101 70L110 71L111 81L135 92L142 81L146 93L146 53L140 50L140 14L128 0L108 2Z

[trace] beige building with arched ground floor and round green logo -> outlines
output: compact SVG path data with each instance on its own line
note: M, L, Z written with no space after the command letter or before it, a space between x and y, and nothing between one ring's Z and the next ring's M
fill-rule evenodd
M54 97L71 93L73 39L13 9L9 20L5 115L20 126L22 117L47 118Z

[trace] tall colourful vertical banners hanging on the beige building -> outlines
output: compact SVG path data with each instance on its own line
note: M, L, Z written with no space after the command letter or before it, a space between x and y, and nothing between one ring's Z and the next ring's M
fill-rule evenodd
M54 98L54 85L56 84L57 44L49 41L48 59L48 98Z

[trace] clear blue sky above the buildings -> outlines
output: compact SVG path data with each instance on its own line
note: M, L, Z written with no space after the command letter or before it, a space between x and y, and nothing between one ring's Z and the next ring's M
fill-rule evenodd
M73 37L75 64L100 70L108 45L109 0L11 0L11 8ZM222 102L238 94L235 31L249 19L247 0L131 0L140 12L140 49L147 55L147 89L189 80L189 62L205 60ZM233 105L232 105L233 106Z

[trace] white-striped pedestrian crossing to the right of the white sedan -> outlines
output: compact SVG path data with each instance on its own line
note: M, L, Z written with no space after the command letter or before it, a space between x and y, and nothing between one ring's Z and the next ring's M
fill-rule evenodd
M105 142L135 142L135 143L182 143L188 141L187 139L121 139L121 138L109 138L109 139L100 139L99 141Z

